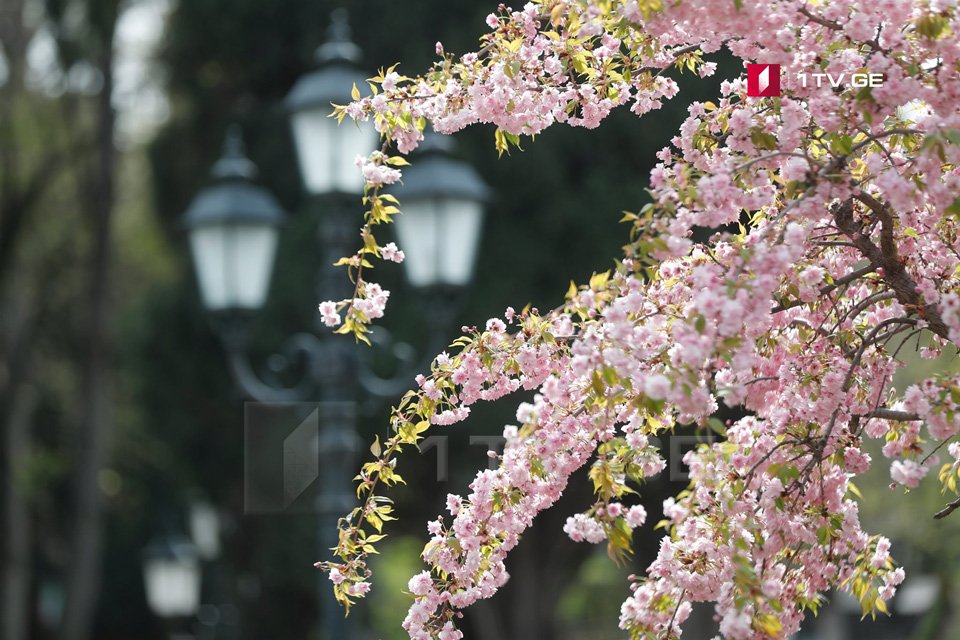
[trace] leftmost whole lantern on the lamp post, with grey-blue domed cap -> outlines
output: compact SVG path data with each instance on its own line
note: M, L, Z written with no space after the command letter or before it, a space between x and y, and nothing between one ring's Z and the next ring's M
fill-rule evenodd
M211 311L257 309L267 296L283 210L253 182L257 168L236 128L211 175L183 216L203 303Z

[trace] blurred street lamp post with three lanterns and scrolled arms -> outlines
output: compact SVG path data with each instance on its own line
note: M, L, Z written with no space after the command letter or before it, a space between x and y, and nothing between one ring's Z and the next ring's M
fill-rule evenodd
M346 12L337 10L332 17L328 40L317 50L319 66L301 78L286 98L307 194L305 208L317 219L324 265L317 276L318 300L349 296L349 283L343 272L332 264L355 249L360 224L357 206L363 181L354 167L354 159L370 153L377 144L377 134L368 126L370 123L360 123L359 128L352 123L338 126L327 117L330 103L348 102L354 83L360 84L366 77L354 66L360 50L350 41ZM228 139L224 157L214 165L213 185L196 197L185 214L184 223L194 249L203 302L214 312L217 320L214 326L238 386L247 396L261 402L319 403L320 435L316 450L320 490L316 509L320 514L320 545L326 556L326 550L338 542L337 520L355 504L350 479L359 450L355 431L357 401L361 394L386 397L399 393L409 386L413 371L405 369L392 378L375 374L358 356L355 344L329 335L318 313L314 332L291 336L280 350L280 361L303 365L299 382L283 387L268 384L256 374L247 355L249 325L244 318L265 302L273 247L283 216L279 206L266 206L267 202L274 202L273 199L264 198L262 189L253 185L255 167L242 156L238 140ZM422 153L423 165L410 167L404 178L405 186L396 191L405 211L409 211L409 217L404 214L398 218L399 241L407 256L407 279L428 301L441 295L449 298L469 283L480 237L483 203L488 193L476 172L454 159L450 145L430 134ZM208 192L216 189L220 189L221 196L213 198ZM223 196L223 189L233 191ZM240 197L241 191L260 203L257 215L243 209L250 202L244 199L247 196ZM259 195L254 196L255 193ZM208 211L208 207L214 208L211 202L218 206L232 202L237 211L245 213L214 214ZM237 218L243 218L248 226L255 226L261 239L241 245L238 234L225 233L223 229L238 226ZM214 225L210 220L220 222ZM216 232L220 240L201 238L200 234L204 233L214 235L206 230L208 227L220 230ZM248 236L253 233L249 229L246 232ZM272 240L266 240L269 234ZM249 256L249 260L235 259L248 250L257 253ZM438 341L443 339L445 328L441 323L452 316L450 312L444 313L446 308L447 305L431 305L427 314L430 335ZM378 328L373 334L376 342L384 342L384 334L385 331ZM272 361L276 362L277 358ZM326 640L347 640L349 629L327 584L321 585L320 604Z

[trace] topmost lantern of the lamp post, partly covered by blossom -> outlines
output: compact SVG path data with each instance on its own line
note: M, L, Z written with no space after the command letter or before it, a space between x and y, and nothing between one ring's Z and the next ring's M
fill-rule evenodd
M333 12L328 39L315 58L317 68L300 78L286 98L304 185L311 194L360 193L363 176L353 161L376 148L377 131L369 121L340 125L328 117L331 103L350 102L353 86L363 87L367 80L354 66L360 48L350 41L346 9Z

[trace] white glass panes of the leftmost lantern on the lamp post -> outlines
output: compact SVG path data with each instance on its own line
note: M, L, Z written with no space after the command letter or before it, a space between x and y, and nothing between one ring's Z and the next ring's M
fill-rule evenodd
M190 230L204 306L259 309L266 301L279 232L272 225L224 221Z

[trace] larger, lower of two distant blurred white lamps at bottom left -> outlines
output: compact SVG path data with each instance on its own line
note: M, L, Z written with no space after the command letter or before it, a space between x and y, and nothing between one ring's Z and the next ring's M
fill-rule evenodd
M189 617L200 606L200 562L189 543L155 542L144 556L150 610L161 618Z

